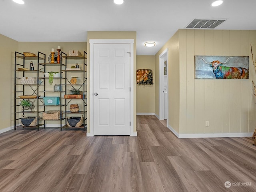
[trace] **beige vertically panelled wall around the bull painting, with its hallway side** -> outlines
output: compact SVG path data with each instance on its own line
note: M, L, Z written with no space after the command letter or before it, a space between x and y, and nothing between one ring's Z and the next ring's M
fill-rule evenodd
M176 94L174 96L179 107L174 105L172 109L169 106L169 112L179 110L178 116L169 114L170 119L174 119L172 115L179 119L178 128L176 127L178 124L173 123L173 120L168 122L174 130L179 134L254 131L256 98L253 95L252 80L256 80L256 72L252 64L250 44L255 42L255 30L181 29L166 43L162 50L169 47L169 72L178 70L174 67L174 63L179 63L179 88L174 85L174 90L170 90L169 86L171 92L177 92L180 95L179 100ZM174 58L172 58L172 50ZM177 50L178 59L176 58ZM250 79L194 79L195 55L250 56ZM157 57L156 55L156 69L158 68ZM169 80L169 83L172 84L171 81ZM158 94L156 85L156 95ZM169 102L172 100L171 95ZM157 108L159 105L156 100L156 110ZM205 127L205 121L209 121L209 127Z

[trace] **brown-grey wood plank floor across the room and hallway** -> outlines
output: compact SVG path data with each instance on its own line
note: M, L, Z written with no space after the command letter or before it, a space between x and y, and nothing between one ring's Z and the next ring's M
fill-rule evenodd
M155 116L138 116L137 132L138 137L86 137L59 129L0 134L0 192L256 191L252 138L178 139Z

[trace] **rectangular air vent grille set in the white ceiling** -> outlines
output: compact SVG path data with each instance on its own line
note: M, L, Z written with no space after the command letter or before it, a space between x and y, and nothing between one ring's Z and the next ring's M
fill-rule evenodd
M226 20L218 19L194 19L186 28L214 29Z

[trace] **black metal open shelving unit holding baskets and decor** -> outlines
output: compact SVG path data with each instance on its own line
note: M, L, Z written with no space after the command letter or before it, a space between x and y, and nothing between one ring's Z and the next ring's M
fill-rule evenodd
M42 52L38 52L37 56L24 56L24 54L15 52L15 84L14 84L14 130L16 128L37 128L39 130L39 127L46 128L46 122L48 121L59 121L60 122L60 130L62 128L65 128L66 130L70 129L73 130L76 128L77 130L86 130L87 129L87 53L84 51L83 56L67 56L64 52L60 52L62 56L62 60L60 64L57 63L47 63L46 62L46 55ZM25 60L31 60L36 61L37 64L34 64L34 66L37 66L37 68L33 71L31 70L18 70L18 68L25 68L29 64L25 62ZM73 61L73 60L82 60L82 70L74 71L74 70L66 70L67 60ZM60 90L59 92L55 92L53 90L46 90L46 84L47 80L49 78L44 77L44 73L46 72L46 69L51 67L58 68L58 72L60 72L60 78L54 78L54 80L58 80L60 82L60 86L64 86L64 90ZM28 75L29 74L29 75ZM72 84L68 80L67 74L82 74L82 81L80 84ZM37 78L37 84L20 84L20 78L21 77L36 77ZM80 75L81 76L81 75ZM83 92L83 98L82 99L75 99L75 98L64 98L64 94L68 94L69 88L76 88ZM30 91L28 91L28 89ZM24 96L27 93L30 93L31 96L36 96L36 98L29 98L29 100L33 100L35 103L36 110L34 112L26 110L22 111L20 106L20 100L22 98L19 98L18 96ZM60 104L58 105L45 105L43 98L46 96L52 96L53 93L55 95L57 94L60 96ZM82 102L78 102L80 105L82 105L82 109L79 112L70 112L67 110L68 104L70 102L72 103L72 100L80 100ZM47 110L50 110L52 107L58 108L60 110L60 119L58 120L43 120L42 119L42 112L46 112ZM33 116L38 117L37 119L37 126L29 126L25 127L20 125L20 120L23 116ZM70 117L72 115L79 116L82 115L84 118L83 125L80 127L68 127L67 126L67 118L66 116ZM65 120L65 124L63 126L62 121ZM39 122L42 122L39 124Z

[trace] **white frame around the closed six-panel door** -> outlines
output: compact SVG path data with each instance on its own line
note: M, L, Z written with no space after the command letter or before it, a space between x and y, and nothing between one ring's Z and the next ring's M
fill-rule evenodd
M90 39L90 133L86 136L94 136L94 97L92 96L94 90L93 82L93 63L94 63L94 44L130 44L130 136L136 136L134 132L134 40L133 39Z

